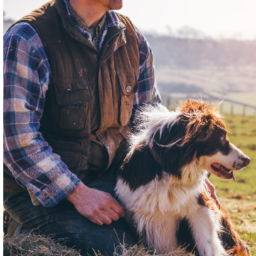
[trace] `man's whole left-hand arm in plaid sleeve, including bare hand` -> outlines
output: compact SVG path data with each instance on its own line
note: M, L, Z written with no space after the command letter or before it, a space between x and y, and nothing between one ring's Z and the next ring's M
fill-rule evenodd
M43 206L67 198L86 218L110 224L124 216L122 206L80 182L38 132L49 83L40 38L27 23L16 25L4 36L4 163Z

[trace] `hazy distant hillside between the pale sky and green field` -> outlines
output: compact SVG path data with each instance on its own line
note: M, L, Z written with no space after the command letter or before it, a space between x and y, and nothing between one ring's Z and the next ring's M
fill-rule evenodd
M256 41L146 38L162 94L256 92Z

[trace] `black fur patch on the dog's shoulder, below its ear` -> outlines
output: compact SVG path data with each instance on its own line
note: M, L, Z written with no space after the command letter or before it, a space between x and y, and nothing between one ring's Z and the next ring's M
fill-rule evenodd
M132 155L124 159L119 176L129 184L131 190L144 186L154 178L161 178L162 168L154 159L149 146L139 145Z

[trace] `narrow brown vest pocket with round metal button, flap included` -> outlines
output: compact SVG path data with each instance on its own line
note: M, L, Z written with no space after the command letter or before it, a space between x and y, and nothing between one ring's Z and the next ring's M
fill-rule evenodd
M132 107L134 104L134 94L138 90L138 80L136 73L119 73L117 74L120 94L121 94L121 105L120 105L120 117L119 122L122 126L129 123L129 119L132 115Z

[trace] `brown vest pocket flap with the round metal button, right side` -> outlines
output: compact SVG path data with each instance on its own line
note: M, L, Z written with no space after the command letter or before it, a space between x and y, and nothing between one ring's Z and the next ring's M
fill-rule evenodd
M134 72L117 74L122 93L132 95L138 90L138 80Z

